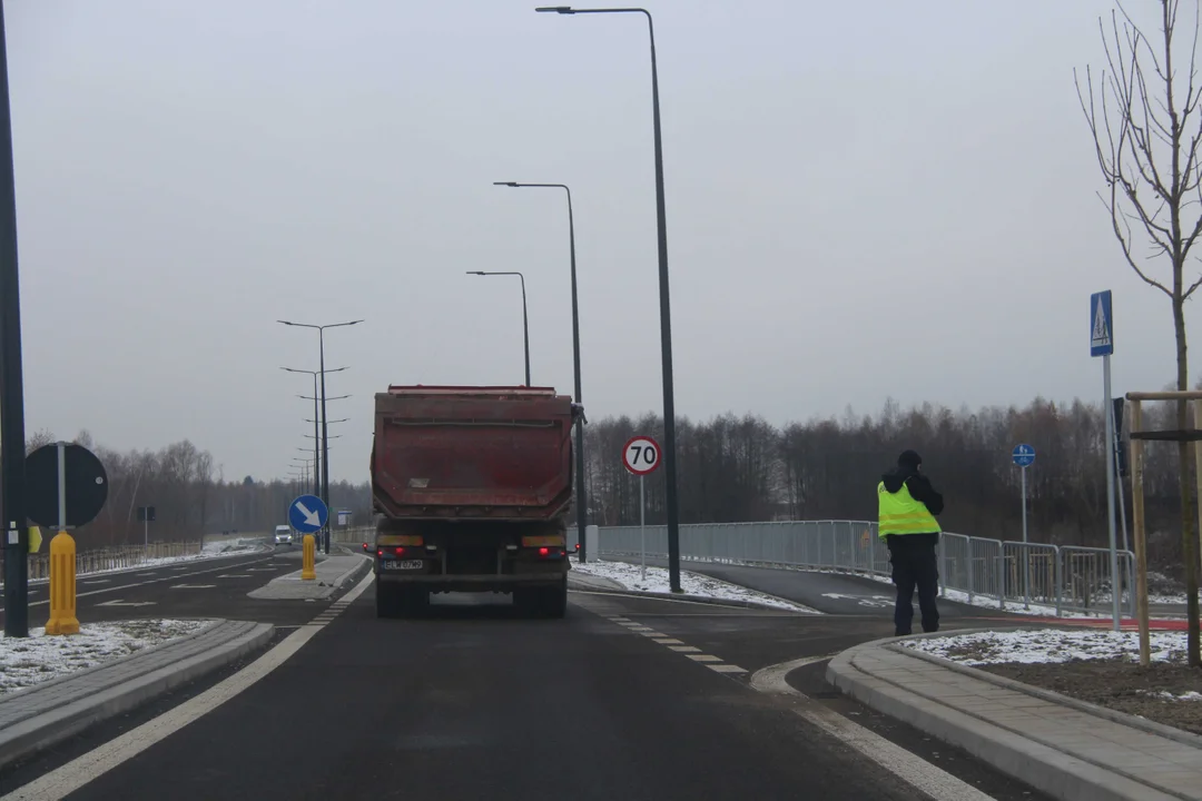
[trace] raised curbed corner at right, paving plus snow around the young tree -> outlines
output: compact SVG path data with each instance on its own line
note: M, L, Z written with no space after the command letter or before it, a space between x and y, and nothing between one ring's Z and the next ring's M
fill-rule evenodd
M1046 688L1064 688L1085 670L1100 682L1121 677L1109 691L1117 698L1159 703L1173 716L1179 715L1176 705L1202 709L1202 698L1186 695L1191 691L1173 693L1172 699L1156 695L1170 692L1154 688L1164 671L1155 665L1141 671L1130 663L1131 648L1137 647L1133 636L1025 628L891 638L837 656L827 666L827 681L1057 799L1202 799L1202 736L1129 715L1123 704L1102 706L1082 699L1085 693L1105 700L1106 687L1078 687L1077 698ZM1184 636L1161 633L1154 640L1160 662L1172 664L1172 654L1184 650ZM1016 665L1039 665L1028 675L1040 676L1045 687L1008 677L1020 673ZM1132 692L1132 681L1146 682L1148 692ZM1196 724L1198 712L1192 715Z

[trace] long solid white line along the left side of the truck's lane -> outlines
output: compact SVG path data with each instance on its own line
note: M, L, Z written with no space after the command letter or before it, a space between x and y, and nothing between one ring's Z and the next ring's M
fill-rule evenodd
M344 597L347 603L358 598L375 579L368 573L353 590ZM126 731L115 740L89 751L66 765L46 773L38 779L0 797L0 801L59 801L84 787L94 778L103 776L121 763L137 757L156 742L179 731L189 723L200 719L231 698L234 698L255 682L266 677L273 670L287 662L325 628L325 624L304 626L284 638L279 645L250 663L234 675L200 695L184 701L179 706L163 712L136 729Z

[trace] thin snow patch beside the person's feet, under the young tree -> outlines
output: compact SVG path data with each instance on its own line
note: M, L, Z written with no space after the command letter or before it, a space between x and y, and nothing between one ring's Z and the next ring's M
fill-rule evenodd
M1182 662L1185 632L1152 632L1153 662ZM1139 659L1137 632L1037 629L981 632L905 640L903 647L932 653L966 665L1072 662L1075 659Z

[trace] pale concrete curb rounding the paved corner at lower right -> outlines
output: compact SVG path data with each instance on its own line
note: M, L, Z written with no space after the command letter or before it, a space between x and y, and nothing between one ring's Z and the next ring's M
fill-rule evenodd
M939 632L920 636L926 639L954 633ZM849 648L828 663L826 679L867 706L960 747L1001 772L1063 801L1170 801L1186 797L1168 795L1112 766L1088 763L988 721L932 701L893 685L888 679L856 666L856 657L861 653L909 639L916 638L887 638ZM906 653L909 656L908 651Z

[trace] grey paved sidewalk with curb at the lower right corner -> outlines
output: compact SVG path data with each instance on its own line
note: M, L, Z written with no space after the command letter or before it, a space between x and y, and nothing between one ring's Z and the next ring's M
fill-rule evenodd
M844 651L827 680L1057 799L1202 800L1202 737L915 654L899 639Z

